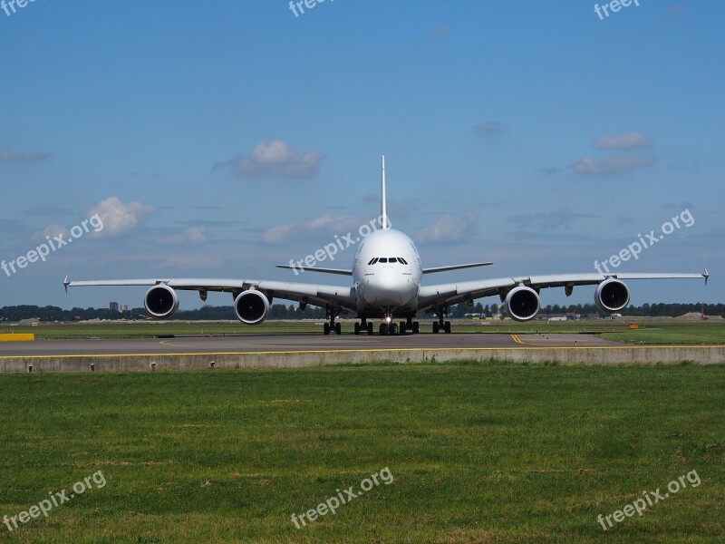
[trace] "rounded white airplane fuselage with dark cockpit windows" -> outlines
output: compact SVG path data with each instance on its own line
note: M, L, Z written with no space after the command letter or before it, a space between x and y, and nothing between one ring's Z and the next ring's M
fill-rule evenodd
M420 277L420 255L411 238L393 228L372 232L353 261L358 314L415 316Z

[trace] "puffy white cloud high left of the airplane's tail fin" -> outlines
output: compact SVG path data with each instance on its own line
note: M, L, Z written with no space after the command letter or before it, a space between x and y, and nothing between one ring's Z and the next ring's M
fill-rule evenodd
M242 178L310 178L320 170L318 151L300 151L281 140L262 141L249 155L218 162L214 170L228 168Z

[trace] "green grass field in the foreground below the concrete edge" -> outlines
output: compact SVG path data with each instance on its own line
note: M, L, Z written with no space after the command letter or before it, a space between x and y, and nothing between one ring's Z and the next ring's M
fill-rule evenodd
M722 542L724 407L721 365L0 374L0 516L106 481L0 542Z

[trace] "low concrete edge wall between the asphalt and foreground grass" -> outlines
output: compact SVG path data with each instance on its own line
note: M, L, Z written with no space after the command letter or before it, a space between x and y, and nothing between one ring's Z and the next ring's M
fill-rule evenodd
M236 368L322 364L509 361L535 364L725 364L725 345L498 347L240 352L184 355L57 355L0 357L0 373L58 373Z

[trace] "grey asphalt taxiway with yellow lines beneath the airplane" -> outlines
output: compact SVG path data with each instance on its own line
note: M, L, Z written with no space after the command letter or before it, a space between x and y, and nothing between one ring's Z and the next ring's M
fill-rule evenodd
M186 336L131 340L35 340L0 343L0 358L73 355L244 354L384 349L465 349L614 346L594 335L420 334Z

